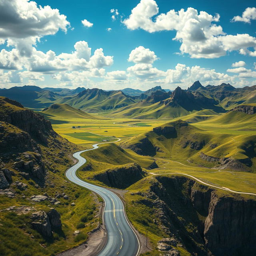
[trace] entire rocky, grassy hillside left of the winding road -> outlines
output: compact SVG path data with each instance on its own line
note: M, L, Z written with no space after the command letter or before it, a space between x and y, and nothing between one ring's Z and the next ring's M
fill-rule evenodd
M56 134L43 116L0 97L0 254L50 256L88 239L98 225L94 216L100 204L65 178L73 164L70 154L81 149ZM43 195L41 201L32 200ZM30 217L51 208L60 214L62 226L45 236ZM75 230L81 234L74 236Z

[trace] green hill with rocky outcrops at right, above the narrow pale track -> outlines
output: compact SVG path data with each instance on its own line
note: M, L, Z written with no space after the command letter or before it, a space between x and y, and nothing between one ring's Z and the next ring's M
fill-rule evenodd
M129 138L121 146L140 155L196 166L255 172L256 107L250 109L254 114L232 110L196 124L169 122Z

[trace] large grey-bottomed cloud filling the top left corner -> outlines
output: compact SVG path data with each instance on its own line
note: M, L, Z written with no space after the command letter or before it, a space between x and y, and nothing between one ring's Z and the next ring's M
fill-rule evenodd
M0 43L7 40L21 56L30 56L32 45L42 36L66 32L68 27L70 23L58 9L29 0L0 0Z

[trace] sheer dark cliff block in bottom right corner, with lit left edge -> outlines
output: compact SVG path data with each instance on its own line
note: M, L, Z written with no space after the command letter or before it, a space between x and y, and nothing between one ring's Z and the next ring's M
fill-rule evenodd
M211 194L204 240L213 255L254 255L256 200Z

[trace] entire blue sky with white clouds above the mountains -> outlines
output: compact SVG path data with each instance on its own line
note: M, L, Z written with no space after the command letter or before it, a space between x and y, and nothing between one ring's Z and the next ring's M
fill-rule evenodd
M0 1L0 16L1 10L5 14L0 19L0 50L5 49L0 87L174 89L194 80L251 86L256 84L254 6L255 1ZM177 13L182 8L184 14ZM170 10L176 14L165 15ZM161 13L165 16L158 23ZM84 26L84 19L93 25Z

